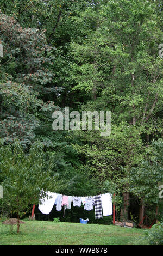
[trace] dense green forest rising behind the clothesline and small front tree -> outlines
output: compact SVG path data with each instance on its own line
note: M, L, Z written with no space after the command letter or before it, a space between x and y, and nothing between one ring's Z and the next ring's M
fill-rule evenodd
M53 192L115 193L117 220L159 218L162 1L0 0L0 9L1 147L18 139L19 154L30 155L41 143L42 166L53 163L61 184ZM67 106L111 111L111 135L54 131L53 112ZM78 220L73 212L63 220Z

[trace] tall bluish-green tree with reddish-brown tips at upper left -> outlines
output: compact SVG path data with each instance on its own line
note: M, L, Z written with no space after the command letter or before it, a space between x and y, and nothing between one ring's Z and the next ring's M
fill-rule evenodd
M43 32L22 28L13 17L0 15L1 43L1 132L6 143L20 138L24 147L39 125L36 112L44 106L43 92L52 81L51 56L45 57ZM48 51L51 50L47 46ZM48 68L48 69L47 69Z

